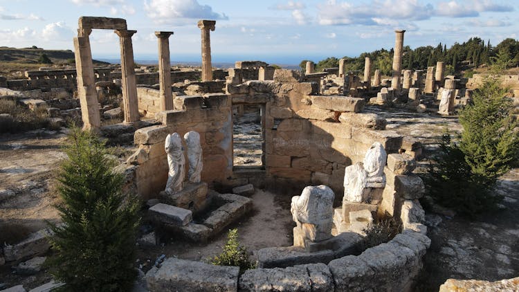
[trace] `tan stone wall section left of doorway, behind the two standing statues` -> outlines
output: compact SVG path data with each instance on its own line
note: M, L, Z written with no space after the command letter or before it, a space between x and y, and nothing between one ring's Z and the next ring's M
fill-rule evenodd
M134 143L139 148L128 162L138 165L136 186L143 199L157 197L165 188L168 168L164 141L170 133L183 136L188 131L199 132L203 149L202 181L223 182L232 174L233 124L228 95L179 96L175 104L180 104L183 110L161 111L156 118L162 125L135 132Z

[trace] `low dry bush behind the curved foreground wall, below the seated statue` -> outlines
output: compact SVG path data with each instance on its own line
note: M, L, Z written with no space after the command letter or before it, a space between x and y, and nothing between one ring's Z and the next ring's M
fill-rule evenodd
M361 250L388 242L402 232L402 224L393 217L377 218L363 230L366 236L361 241Z

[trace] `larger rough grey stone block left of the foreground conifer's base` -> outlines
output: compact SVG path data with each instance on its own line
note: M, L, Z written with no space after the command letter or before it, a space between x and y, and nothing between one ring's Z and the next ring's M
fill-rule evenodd
M34 255L41 255L51 248L47 237L51 236L51 230L44 229L31 233L24 241L15 245L3 246L3 256L6 262L17 261Z

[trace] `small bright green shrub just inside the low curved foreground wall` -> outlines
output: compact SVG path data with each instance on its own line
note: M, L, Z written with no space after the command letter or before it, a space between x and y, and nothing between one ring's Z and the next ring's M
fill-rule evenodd
M247 249L239 244L237 229L229 230L224 252L214 257L211 264L217 266L239 266L239 273L244 273L249 268L256 267L248 259Z

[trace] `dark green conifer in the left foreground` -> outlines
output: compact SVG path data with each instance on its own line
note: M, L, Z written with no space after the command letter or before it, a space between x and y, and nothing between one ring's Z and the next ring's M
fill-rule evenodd
M51 273L65 291L129 291L136 276L136 197L95 134L75 128L57 172L62 224L51 226Z

